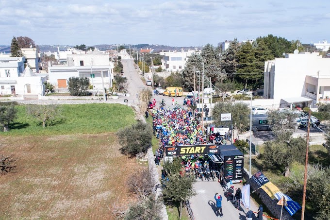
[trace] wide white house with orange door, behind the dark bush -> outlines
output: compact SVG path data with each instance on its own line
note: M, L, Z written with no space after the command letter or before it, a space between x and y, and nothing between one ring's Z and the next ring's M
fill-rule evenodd
M48 67L49 82L58 89L66 89L70 77L87 77L95 89L102 90L102 79L105 88L112 87L114 63L109 55L99 51L87 54L68 54L66 65Z

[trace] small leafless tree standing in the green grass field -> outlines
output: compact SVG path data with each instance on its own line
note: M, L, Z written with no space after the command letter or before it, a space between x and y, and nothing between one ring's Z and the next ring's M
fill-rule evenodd
M60 115L60 107L56 104L28 105L27 112L33 118L41 120L42 125L45 128L47 121L52 120Z

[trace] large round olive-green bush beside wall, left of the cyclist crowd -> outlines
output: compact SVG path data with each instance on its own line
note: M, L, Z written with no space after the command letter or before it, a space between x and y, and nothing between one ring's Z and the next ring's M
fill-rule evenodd
M137 153L146 152L151 146L152 128L150 125L138 121L130 127L126 127L116 134L122 152L135 156Z

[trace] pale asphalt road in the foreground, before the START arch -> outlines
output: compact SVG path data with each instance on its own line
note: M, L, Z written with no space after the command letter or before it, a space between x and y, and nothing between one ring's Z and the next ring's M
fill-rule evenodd
M242 184L233 184L235 188L242 188ZM192 208L195 220L246 220L247 208L243 207L240 210L235 208L232 200L227 202L225 193L217 181L206 181L202 182L198 180L195 184L195 190L197 195L192 197L190 201L190 206ZM216 216L215 214L215 193L219 193L222 196L222 218ZM250 200L251 210L258 211L259 205L256 204L252 199ZM264 218L265 219L265 218Z

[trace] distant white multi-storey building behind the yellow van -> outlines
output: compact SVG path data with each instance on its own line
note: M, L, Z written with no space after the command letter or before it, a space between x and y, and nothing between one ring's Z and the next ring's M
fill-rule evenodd
M166 71L181 71L184 68L185 63L188 61L189 57L193 53L200 53L200 51L188 50L184 51L168 51L168 52L160 52L162 56L162 69L166 69Z

